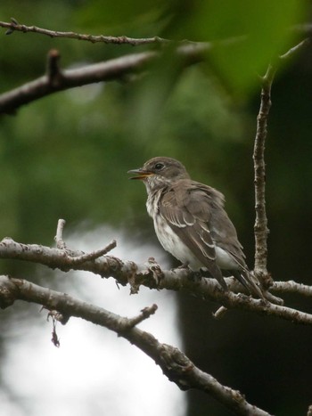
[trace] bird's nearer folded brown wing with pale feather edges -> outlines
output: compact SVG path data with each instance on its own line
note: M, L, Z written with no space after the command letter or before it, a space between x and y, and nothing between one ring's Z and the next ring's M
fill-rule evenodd
M173 184L160 198L160 215L163 216L178 237L193 252L209 273L226 289L226 282L216 263L215 243L209 231L212 188L202 190L197 183L181 180ZM218 192L218 198L222 195Z

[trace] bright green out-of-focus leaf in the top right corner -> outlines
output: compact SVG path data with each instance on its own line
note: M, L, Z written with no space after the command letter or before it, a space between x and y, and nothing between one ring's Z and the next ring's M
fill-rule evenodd
M174 7L166 35L211 42L208 68L234 94L258 83L270 61L295 42L291 27L305 10L298 0L184 1Z

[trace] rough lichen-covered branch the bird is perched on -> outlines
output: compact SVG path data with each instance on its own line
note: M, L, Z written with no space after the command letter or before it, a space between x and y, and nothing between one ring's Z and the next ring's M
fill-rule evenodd
M107 247L110 246L111 244ZM122 286L129 284L131 293L137 293L141 285L150 289L176 290L204 300L218 302L227 309L242 309L256 314L272 315L286 321L312 325L312 314L243 295L242 286L233 278L227 278L226 284L230 290L241 292L238 295L231 291L225 293L214 279L201 278L199 280L189 269L163 271L153 259L149 259L144 265L138 265L131 261L122 261L117 257L103 256L102 251L95 251L98 257L86 260L88 255L79 250L51 249L37 244L21 244L10 238L5 238L0 242L0 258L29 261L52 269L59 268L64 272L84 270L99 274L103 278L113 277ZM83 258L84 261L76 262L76 257ZM279 285L283 286L283 283L280 282Z

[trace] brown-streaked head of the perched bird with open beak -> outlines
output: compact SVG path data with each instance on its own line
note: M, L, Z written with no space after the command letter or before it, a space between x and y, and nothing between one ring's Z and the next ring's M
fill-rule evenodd
M129 170L128 174L135 174L130 179L141 179L147 190L173 184L180 179L189 179L185 167L176 159L158 157L147 160L143 167Z

